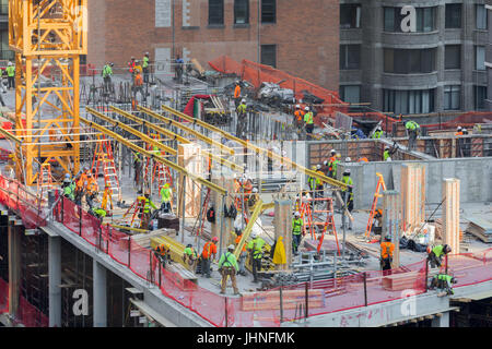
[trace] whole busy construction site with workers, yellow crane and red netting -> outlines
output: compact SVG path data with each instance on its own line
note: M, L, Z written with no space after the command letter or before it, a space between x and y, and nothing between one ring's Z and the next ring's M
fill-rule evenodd
M81 64L86 2L9 1L3 326L492 326L491 112L227 56Z

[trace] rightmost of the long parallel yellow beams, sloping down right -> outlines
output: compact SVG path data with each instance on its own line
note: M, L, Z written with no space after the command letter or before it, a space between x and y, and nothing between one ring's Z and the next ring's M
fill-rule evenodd
M213 127L213 125L211 125L211 124L209 124L207 122L203 122L201 120L191 118L191 117L187 116L186 113L183 113L180 111L177 111L177 110L175 110L175 109L173 109L171 107L164 106L164 105L162 106L162 109L164 109L167 112L171 112L172 115L175 115L176 117L183 118L183 119L185 119L185 120L187 120L189 122L197 123L200 127L203 127L203 128L206 128L206 129L208 129L208 130L210 130L212 132L220 133L223 137L229 139L231 141L234 141L234 142L237 142L241 145L243 145L245 148L255 151L256 153L263 153L271 159L277 159L279 161L283 161L283 163L290 165L292 168L297 169L297 170L300 170L301 172L303 172L303 173L305 173L307 176L317 178L317 179L319 179L319 180L321 180L321 181L324 181L326 183L329 183L329 184L331 184L333 186L337 186L337 188L340 188L340 189L347 189L347 184L343 183L343 182L337 181L337 180L335 180L332 178L329 178L329 177L326 177L324 174L317 173L316 171L309 170L309 169L305 168L304 166L295 164L294 161L292 161L288 157L282 157L282 156L278 155L278 154L274 154L271 151L267 151L267 149L263 149L263 148L261 148L259 146L253 145L253 144L250 144L250 143L242 140L242 139L238 139L238 137L232 135L231 133L227 133L227 132L225 132L225 131L223 131L223 130L221 130L219 128L215 128L215 127Z

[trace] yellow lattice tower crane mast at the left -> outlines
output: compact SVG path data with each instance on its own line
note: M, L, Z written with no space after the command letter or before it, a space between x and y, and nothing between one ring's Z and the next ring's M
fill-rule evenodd
M80 55L87 52L86 4L87 0L9 0L15 134L23 141L16 145L16 174L27 185L38 181L43 164L79 171L79 69Z

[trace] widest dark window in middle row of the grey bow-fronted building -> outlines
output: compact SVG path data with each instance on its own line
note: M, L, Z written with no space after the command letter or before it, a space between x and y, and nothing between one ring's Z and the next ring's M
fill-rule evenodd
M384 49L385 73L415 74L435 71L435 48L421 50Z

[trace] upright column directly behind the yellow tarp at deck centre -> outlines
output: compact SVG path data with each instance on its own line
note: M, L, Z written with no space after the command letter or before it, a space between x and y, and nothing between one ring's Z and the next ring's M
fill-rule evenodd
M274 200L274 229L276 240L283 238L283 245L285 248L286 264L280 265L278 269L285 270L292 263L292 201L285 198Z

